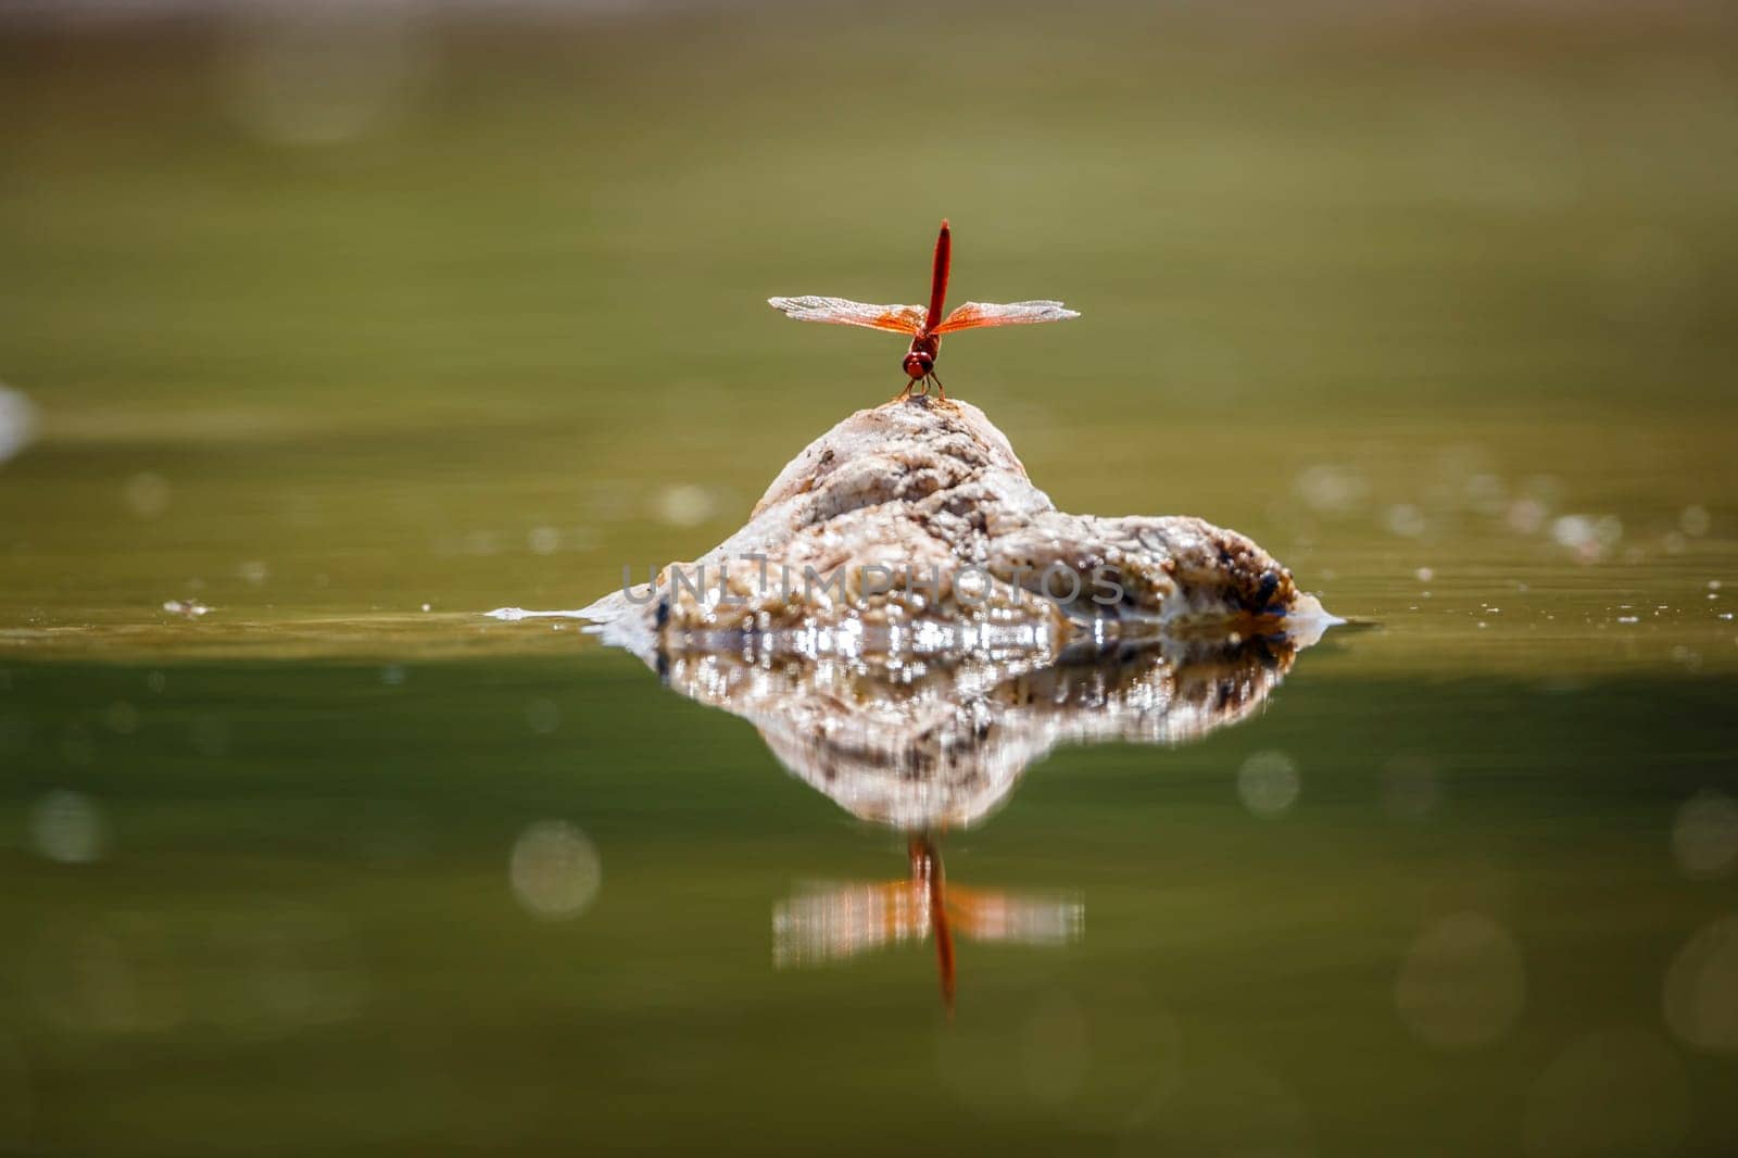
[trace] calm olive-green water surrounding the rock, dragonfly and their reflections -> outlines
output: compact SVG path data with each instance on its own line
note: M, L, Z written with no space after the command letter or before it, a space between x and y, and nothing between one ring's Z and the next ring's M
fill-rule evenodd
M0 28L0 1151L1738 1148L1731 24L1277 19L452 24L323 144L247 30ZM951 833L1083 909L952 1021L926 944L773 967L900 835L480 616L893 393L763 299L944 214L1083 313L940 365L1060 506L1376 624Z

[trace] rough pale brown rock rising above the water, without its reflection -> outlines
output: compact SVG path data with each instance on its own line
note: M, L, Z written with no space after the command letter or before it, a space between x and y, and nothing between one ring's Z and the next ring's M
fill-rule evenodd
M977 407L859 410L780 471L747 525L582 612L653 649L1058 654L1071 642L1326 621L1255 542L1199 518L1058 511Z

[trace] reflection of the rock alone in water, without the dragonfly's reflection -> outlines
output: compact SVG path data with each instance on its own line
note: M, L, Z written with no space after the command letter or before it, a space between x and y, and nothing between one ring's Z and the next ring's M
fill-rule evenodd
M1156 640L1060 657L659 652L666 683L749 720L852 815L907 833L982 822L1058 744L1182 744L1257 711L1300 643Z

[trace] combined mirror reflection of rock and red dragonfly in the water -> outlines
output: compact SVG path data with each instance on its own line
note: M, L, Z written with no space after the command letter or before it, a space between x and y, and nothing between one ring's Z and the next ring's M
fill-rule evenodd
M815 654L779 633L730 649L664 633L641 657L673 690L754 723L780 763L841 809L909 838L902 880L806 887L777 902L773 965L932 941L951 1010L956 937L1065 944L1081 935L1085 904L949 885L940 838L994 814L1058 744L1184 744L1250 716L1316 635L911 656Z

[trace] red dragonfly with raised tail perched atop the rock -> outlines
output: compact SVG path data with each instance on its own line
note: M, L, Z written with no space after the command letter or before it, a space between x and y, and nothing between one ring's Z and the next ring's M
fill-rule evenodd
M911 334L911 349L900 363L905 376L905 389L900 398L921 384L919 393L930 393L930 383L940 391L947 389L942 379L935 377L935 356L942 348L942 334L954 330L973 330L980 325L1031 325L1032 322L1064 322L1081 316L1074 309L1064 309L1060 301L1015 301L1006 304L968 301L945 318L942 301L947 297L947 268L952 264L952 235L947 219L942 219L942 231L935 238L935 266L930 278L930 308L923 306L871 306L845 297L768 297L766 304L784 309L798 322L833 322L834 325L862 325L871 330L892 330L893 334Z

